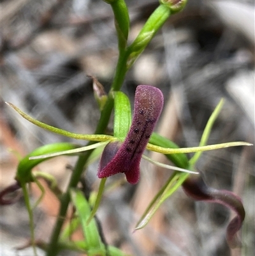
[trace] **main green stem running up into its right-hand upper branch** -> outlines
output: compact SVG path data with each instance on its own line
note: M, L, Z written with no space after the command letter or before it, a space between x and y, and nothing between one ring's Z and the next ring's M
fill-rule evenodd
M123 7L124 6L122 6L122 8ZM113 9L114 9L113 11L116 12L115 8ZM137 59L140 53L142 53L142 51L145 49L145 47L147 46L149 41L152 39L154 34L156 34L158 29L164 24L164 22L166 21L166 19L168 19L169 16L170 16L170 11L167 10L167 8L165 8L164 6L159 6L159 8L157 8L156 10L156 13L154 13L152 17L150 17L148 22L145 24L145 29L142 29L141 31L142 33L138 35L138 38L136 38L134 43L128 49L123 49L122 47L124 43L120 43L119 59L118 59L112 87L110 89L110 93L108 94L108 100L105 103L105 107L101 112L101 117L98 121L98 126L96 128L95 134L104 133L106 126L108 125L108 121L110 119L110 115L112 113L113 103L114 103L112 91L119 91L120 87L123 84L124 78L126 76L126 72L129 70L129 68L134 63L135 59ZM147 36L148 34L149 36ZM126 38L127 35L128 35L128 31L126 31L123 37ZM142 40L142 43L139 43L139 40ZM122 42L123 41L124 40L122 40ZM93 143L94 142L89 142L87 145L89 146ZM66 211L68 209L68 205L70 201L69 190L70 188L75 188L77 186L78 181L80 180L80 176L82 175L82 172L84 170L84 165L87 162L87 159L89 158L91 153L92 151L87 151L87 153L85 153L83 156L80 156L78 158L77 165L75 166L75 169L73 170L73 174L69 181L68 189L66 193L64 193L61 197L61 207L59 209L59 218L57 219L57 223L55 224L54 231L52 232L52 237L50 240L50 244L48 246L47 256L56 256L57 253L59 252L57 243L59 241L59 234L61 232L62 225L64 223L64 218L66 216Z

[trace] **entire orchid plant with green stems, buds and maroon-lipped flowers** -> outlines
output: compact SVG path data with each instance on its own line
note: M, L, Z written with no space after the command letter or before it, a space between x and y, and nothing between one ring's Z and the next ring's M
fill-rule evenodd
M200 172L198 172L195 167L203 151L220 149L222 147L251 145L247 142L228 142L224 144L207 145L210 130L221 110L223 101L221 100L221 102L219 102L208 120L203 136L201 137L200 145L198 147L180 149L175 143L153 132L161 115L164 103L163 94L157 87L140 85L136 88L133 119L131 117L129 98L126 94L119 91L126 72L131 68L137 57L142 53L154 34L156 34L168 17L184 8L186 0L159 1L159 7L150 15L142 30L130 45L128 45L129 15L125 1L108 0L106 3L112 6L115 15L115 27L119 40L119 61L117 63L113 84L108 94L105 93L103 86L99 84L98 80L92 77L95 97L99 104L99 110L101 110L101 117L98 121L96 131L94 134L85 135L55 128L33 119L33 117L28 116L15 105L8 103L18 114L41 128L73 139L89 140L89 143L82 147L77 144L61 142L48 144L35 149L32 153L20 160L15 177L16 182L0 193L0 204L12 204L16 199L6 199L7 195L10 192L15 192L19 188L22 188L25 204L29 213L31 245L34 248L34 255L37 253L36 246L43 248L48 256L55 256L63 249L86 252L87 255L91 256L125 255L119 249L105 245L96 220L94 219L94 215L99 207L105 189L106 179L115 174L124 173L129 183L138 183L140 179L140 160L145 158L145 160L149 160L165 169L172 169L174 172L162 186L152 202L150 202L138 221L136 229L145 227L159 206L163 204L164 200L168 199L182 186L187 195L193 197L195 200L218 202L230 207L237 213L237 216L235 216L228 225L226 232L227 241L230 246L237 246L238 240L236 234L242 226L245 217L242 200L232 192L215 190L208 187L207 184L204 183ZM113 134L107 135L105 134L105 129L108 125L112 109L114 109L115 114ZM164 154L175 166L152 160L149 156L144 154L145 149ZM188 159L186 153L191 152L195 154L193 158ZM59 192L59 190L55 189L57 185L54 183L53 177L49 177L43 172L32 172L33 167L38 165L38 163L61 154L78 155L78 160L73 169L66 192ZM77 184L86 167L99 157L100 161L97 173L99 179L101 179L99 190L95 199L86 199L77 189ZM36 241L34 237L33 208L29 202L27 191L27 184L35 182L41 188L41 197L43 197L43 186L41 186L38 181L38 176L52 181L52 191L56 193L61 203L59 218L57 218L48 245L41 241ZM38 202L39 201L40 199ZM38 202L36 202L36 205ZM71 220L71 223L62 229L70 202L75 206L78 218ZM75 228L73 227L77 227L78 225L82 226L85 239L83 241L69 241L68 234L75 232Z

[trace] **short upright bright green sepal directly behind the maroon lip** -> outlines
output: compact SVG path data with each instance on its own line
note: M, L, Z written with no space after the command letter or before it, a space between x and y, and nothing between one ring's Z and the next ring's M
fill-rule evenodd
M131 106L128 96L121 91L114 93L114 127L113 134L124 140L131 125Z

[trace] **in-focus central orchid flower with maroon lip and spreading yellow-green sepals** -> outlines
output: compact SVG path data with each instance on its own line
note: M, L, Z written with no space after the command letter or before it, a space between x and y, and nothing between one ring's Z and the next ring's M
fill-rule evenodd
M187 167L173 167L171 165L165 165L163 163L156 162L143 155L145 149L168 155L171 154L171 161L173 163L180 164L180 162L187 163L187 158L186 156L184 157L184 154L178 153L200 152L219 149L222 147L249 145L247 142L228 142L210 146L186 147L180 149L176 144L170 142L170 144L166 143L166 146L164 146L164 143L162 146L157 146L159 140L161 140L161 137L156 135L156 133L152 134L152 132L163 109L163 103L163 94L156 87L147 85L140 85L136 87L134 116L130 126L129 119L131 119L131 110L129 106L129 99L126 94L115 92L115 124L113 136L98 134L82 135L70 133L59 128L49 126L48 124L41 123L40 121L27 116L24 112L22 112L11 103L8 104L17 110L19 114L25 117L25 119L40 126L41 128L45 128L47 130L51 130L52 132L75 139L101 141L96 144L79 147L77 149L71 149L69 151L43 154L41 156L32 156L29 158L30 160L49 158L53 156L59 156L61 154L79 153L103 146L105 149L99 163L98 177L104 178L117 173L124 173L126 175L127 181L131 184L138 183L140 177L139 165L142 157L149 160L149 162L152 162L155 165L159 165L166 169L198 174L198 172L194 170L187 170ZM152 144L148 143L150 139L152 139Z

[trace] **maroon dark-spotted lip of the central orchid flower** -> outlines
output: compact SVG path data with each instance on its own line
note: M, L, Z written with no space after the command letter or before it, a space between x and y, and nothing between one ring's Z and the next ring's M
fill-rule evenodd
M124 172L129 183L138 183L140 160L159 119L163 103L163 94L156 87L136 88L134 117L128 135L123 143L112 142L105 147L98 169L99 178Z

